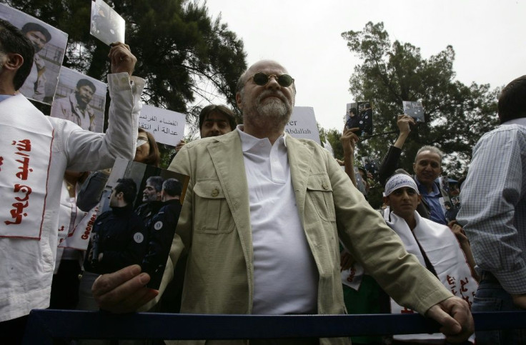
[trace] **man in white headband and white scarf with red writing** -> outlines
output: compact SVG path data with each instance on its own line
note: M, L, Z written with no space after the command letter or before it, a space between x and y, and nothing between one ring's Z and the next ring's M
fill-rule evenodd
M420 264L437 276L452 294L471 305L478 284L474 274L475 261L467 237L457 239L448 226L418 214L416 210L422 196L415 180L405 171L394 174L387 180L384 195L384 204L389 206L389 210L384 212L385 221L400 236L405 249L417 256ZM407 314L412 311L391 299L391 312ZM394 336L394 339L432 341L445 339L445 336L440 333L407 334Z

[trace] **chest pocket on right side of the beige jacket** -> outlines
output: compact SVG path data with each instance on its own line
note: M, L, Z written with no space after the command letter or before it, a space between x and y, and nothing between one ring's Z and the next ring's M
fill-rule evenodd
M321 219L324 221L336 221L334 200L332 199L332 185L329 181L329 176L325 174L309 176L307 198L312 202Z

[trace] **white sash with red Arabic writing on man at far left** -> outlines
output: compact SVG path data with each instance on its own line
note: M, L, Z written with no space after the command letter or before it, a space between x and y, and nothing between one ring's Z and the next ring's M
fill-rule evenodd
M0 117L0 237L40 239L53 127L44 116L26 115Z

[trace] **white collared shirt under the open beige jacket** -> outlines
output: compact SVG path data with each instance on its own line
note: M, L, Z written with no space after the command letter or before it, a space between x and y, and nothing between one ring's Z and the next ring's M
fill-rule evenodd
M286 134L274 145L237 127L250 201L254 248L252 314L314 314L318 273L299 219Z

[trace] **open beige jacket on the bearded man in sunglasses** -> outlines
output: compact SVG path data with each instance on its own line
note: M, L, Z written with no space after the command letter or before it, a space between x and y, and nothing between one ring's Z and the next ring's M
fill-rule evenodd
M319 273L319 314L345 313L338 238L400 304L424 313L452 296L407 254L398 236L326 150L314 141L287 136L287 153L299 216ZM171 279L181 251L187 250L181 312L251 314L254 255L237 130L185 145L169 169L189 175L190 183L160 290ZM348 344L349 340L320 342Z

